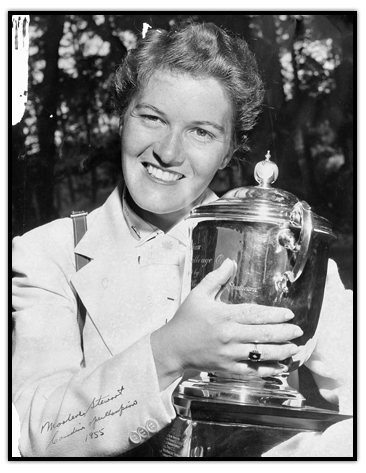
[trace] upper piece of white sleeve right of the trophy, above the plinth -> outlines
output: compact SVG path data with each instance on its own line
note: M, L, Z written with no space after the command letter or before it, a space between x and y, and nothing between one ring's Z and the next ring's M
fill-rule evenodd
M320 394L339 404L341 413L352 413L353 399L353 293L346 290L338 268L330 260L316 346L305 363Z

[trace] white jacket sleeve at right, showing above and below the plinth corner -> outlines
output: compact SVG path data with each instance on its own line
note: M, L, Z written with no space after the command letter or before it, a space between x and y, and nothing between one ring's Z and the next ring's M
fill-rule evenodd
M324 301L315 349L305 365L312 371L320 394L352 414L353 304L334 261L329 261ZM338 422L324 432L302 432L264 453L265 458L353 457L353 419Z

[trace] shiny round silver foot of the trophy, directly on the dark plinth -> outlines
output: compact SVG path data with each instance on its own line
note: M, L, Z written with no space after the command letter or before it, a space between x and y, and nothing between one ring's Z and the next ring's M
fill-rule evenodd
M179 386L179 394L241 405L305 407L305 398L287 383L287 374L268 378L233 379L201 374Z

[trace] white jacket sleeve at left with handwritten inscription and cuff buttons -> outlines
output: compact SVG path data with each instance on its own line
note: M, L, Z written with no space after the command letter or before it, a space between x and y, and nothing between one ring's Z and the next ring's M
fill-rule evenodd
M118 456L171 422L178 380L159 392L150 335L99 366L81 368L75 295L44 246L34 235L14 240L13 402L20 452ZM72 252L67 258L72 266Z

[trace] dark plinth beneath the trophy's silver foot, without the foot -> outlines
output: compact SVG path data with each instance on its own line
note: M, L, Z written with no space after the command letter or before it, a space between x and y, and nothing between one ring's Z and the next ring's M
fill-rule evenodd
M351 416L314 407L241 405L177 394L176 419L164 432L161 457L262 457L296 435L323 432Z

